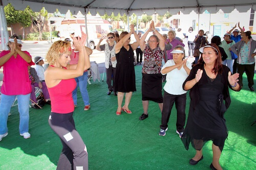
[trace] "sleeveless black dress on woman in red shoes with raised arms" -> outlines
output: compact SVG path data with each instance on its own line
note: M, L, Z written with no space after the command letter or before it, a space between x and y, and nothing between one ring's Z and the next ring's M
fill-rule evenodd
M134 70L134 52L132 46L129 44L127 51L123 46L119 53L116 54L116 77L115 88L116 91L130 92L136 91L135 85L135 70Z

